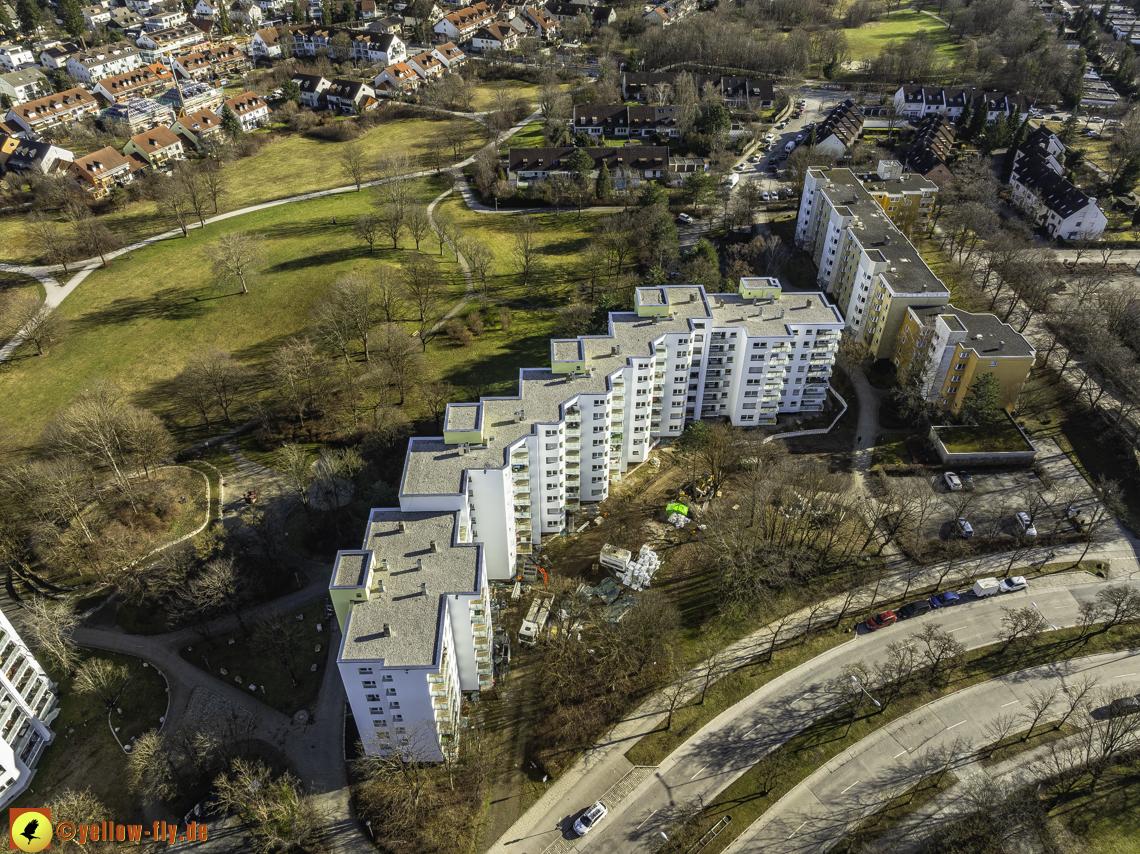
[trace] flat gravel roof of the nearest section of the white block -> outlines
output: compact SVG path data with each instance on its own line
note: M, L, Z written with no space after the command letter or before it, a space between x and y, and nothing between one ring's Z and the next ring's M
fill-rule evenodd
M343 660L425 667L439 659L441 597L479 589L481 546L453 545L455 523L455 513L372 511L363 547L372 552L374 577L384 583L384 592L373 591L370 599L352 605L341 645ZM340 583L344 559L350 559L345 576L359 568L358 554L339 555L334 585Z

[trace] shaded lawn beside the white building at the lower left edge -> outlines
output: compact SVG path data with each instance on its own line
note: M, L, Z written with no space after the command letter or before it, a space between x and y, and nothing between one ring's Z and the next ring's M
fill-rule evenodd
M125 665L133 674L119 702L122 716L112 713L119 738L130 741L148 730L161 726L158 718L166 714L166 681L153 667L131 656L120 656L104 650L87 650L84 658L105 658ZM13 806L43 806L54 795L65 789L82 790L90 787L106 805L108 814L130 816L138 805L127 783L127 755L122 751L107 725L107 707L96 694L76 693L73 680L50 672L59 686L59 716L51 723L56 733L36 765L34 791L26 791ZM114 786L108 780L119 781Z

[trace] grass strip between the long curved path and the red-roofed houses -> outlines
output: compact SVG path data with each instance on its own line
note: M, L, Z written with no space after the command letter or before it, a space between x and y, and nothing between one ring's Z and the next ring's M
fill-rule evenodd
M421 162L430 149L439 149L442 160L450 162L450 147L437 139L443 121L450 120L451 116L441 116L439 121L401 119L373 128L359 141L373 160L381 154L408 152ZM471 122L471 129L473 136L469 154L486 140L481 124ZM261 151L252 157L228 163L225 168L228 188L219 202L220 212L351 184L341 171L337 160L340 143L280 132L259 133L264 133L269 140ZM130 204L107 214L105 220L111 229L119 231L128 242L173 227L164 221L153 202ZM24 246L23 225L22 213L0 217L0 260L32 260Z

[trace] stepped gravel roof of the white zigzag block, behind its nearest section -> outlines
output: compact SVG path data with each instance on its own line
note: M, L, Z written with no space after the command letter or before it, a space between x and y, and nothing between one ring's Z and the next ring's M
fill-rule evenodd
M668 306L671 310L657 318L638 317L633 311L612 312L610 335L553 342L556 360L581 360L585 371L555 374L546 367L520 369L518 397L482 399L486 444L459 447L445 444L442 438L412 439L401 494L456 495L464 488L464 471L502 469L507 464L507 447L534 433L536 424L561 421L564 406L578 396L606 393L613 373L638 358L651 357L652 342L666 334L691 332L692 320L711 319L716 326L747 326L748 334L756 336L790 336L789 324L841 324L841 318L821 293L784 294L775 302L760 299L762 304L754 307L751 300L739 294L706 295L700 286L681 285L638 288L638 299L643 306ZM720 304L714 304L714 300L719 300ZM807 304L808 300L812 306ZM785 310L782 319L781 309ZM449 423L448 429L464 428L453 428Z

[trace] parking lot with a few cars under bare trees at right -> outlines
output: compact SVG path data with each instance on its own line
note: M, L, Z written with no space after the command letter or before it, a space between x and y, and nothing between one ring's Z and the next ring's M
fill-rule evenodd
M1043 477L1028 469L967 467L954 471L969 474L974 480L972 489L952 490L943 471L928 478L893 478L891 482L902 486L897 480L921 479L921 483L914 483L913 488L918 490L921 487L936 496L935 506L922 523L920 536L923 539L959 536L954 520L960 517L969 521L975 536L1005 535L1012 538L1018 532L1013 519L1018 512L1028 513L1040 536L1072 531L1074 527L1068 520L1068 509L1075 506L1078 511L1086 511L1093 502L1092 489L1052 440L1037 442L1037 449L1036 469Z

